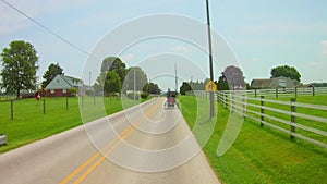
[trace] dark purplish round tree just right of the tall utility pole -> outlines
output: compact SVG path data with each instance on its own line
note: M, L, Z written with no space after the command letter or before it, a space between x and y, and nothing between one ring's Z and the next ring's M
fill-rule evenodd
M241 69L230 65L225 69L223 74L231 89L245 88L245 77L243 76Z

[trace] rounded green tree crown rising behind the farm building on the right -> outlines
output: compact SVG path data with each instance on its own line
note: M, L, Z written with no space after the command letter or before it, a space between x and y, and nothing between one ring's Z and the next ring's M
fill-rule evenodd
M271 74L271 78L284 76L284 77L289 77L291 79L296 79L298 82L301 82L301 74L293 66L280 65L280 66L271 69L270 74Z

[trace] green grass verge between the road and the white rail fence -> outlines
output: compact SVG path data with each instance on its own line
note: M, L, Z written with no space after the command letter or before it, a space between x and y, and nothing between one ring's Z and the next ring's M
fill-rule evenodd
M182 113L193 128L197 118L197 109L194 108L196 100L187 96L180 96L179 100ZM315 100L320 102L322 99ZM299 98L298 101L302 99ZM229 114L229 110L218 105L216 126L204 147L211 167L223 183L326 183L326 149L298 139L290 140L289 135L261 127L257 122L249 119L243 122L232 147L218 157L217 147L227 127ZM203 125L207 126L206 123Z

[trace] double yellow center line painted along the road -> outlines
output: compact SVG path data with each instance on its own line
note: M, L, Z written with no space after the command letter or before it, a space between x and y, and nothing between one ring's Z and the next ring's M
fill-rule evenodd
M161 103L161 100L159 102L157 102L152 109L147 110L145 112L145 115L148 116L150 115L156 109L157 107ZM142 123L142 121L144 120L144 115L142 118L140 118L136 123L131 124L130 126L128 126L124 131L122 131L118 136L116 136L112 140L110 140L101 150L102 151L97 151L97 154L95 154L92 158L89 158L86 162L84 162L83 164L81 164L74 172L72 172L70 175L68 175L64 180L62 180L60 182L60 184L66 184L69 183L73 177L75 177L78 173L81 173L86 167L90 165L92 162L94 160L96 160L98 157L99 159L93 164L90 165L87 171L85 171L74 183L81 183L93 170L95 170L98 164L100 164L106 156L110 155L119 145L120 143L125 139L130 134L132 134L136 126L140 125ZM113 145L107 152L105 151L106 149L108 149L111 145ZM106 152L106 156L101 155L101 152Z

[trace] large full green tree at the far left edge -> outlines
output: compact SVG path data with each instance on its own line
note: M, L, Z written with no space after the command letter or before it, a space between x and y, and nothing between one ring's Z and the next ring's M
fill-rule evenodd
M36 89L38 57L29 42L10 42L9 48L2 50L1 58L1 86L7 93L16 93L16 97L20 98L21 90Z

